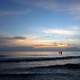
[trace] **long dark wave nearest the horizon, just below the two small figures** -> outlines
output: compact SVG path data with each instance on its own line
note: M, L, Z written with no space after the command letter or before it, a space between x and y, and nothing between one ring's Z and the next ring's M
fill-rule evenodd
M0 62L29 62L29 61L49 61L49 60L65 60L78 59L80 56L66 56L66 57L27 57L27 58L1 58Z

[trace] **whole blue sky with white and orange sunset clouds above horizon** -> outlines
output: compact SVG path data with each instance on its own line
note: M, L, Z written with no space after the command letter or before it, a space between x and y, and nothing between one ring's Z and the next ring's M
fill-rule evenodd
M0 48L80 48L80 0L0 0Z

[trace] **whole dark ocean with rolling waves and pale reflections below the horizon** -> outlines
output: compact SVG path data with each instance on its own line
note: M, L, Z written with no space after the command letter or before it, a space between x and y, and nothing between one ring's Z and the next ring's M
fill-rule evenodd
M80 80L80 52L0 51L0 80Z

